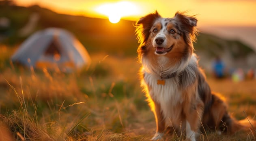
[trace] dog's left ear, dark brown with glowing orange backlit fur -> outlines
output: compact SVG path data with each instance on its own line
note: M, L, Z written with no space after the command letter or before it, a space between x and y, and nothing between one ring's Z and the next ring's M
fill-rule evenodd
M139 43L144 44L150 34L150 29L157 18L161 17L157 11L141 17L136 23L136 35Z

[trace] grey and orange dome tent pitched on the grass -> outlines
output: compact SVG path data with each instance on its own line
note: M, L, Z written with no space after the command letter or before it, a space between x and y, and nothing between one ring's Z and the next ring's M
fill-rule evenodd
M84 46L64 29L48 28L31 35L12 56L13 62L28 67L70 71L90 65Z

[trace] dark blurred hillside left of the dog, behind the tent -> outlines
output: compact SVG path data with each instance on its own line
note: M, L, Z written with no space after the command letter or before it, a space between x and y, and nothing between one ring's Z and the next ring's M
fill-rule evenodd
M6 31L9 37L3 41L5 44L14 45L26 38L18 37L17 33L26 25L32 13L39 14L39 21L34 31L47 27L60 27L71 31L90 53L136 54L138 44L134 35L135 22L121 20L117 24L112 24L107 19L63 15L39 6L25 8L0 5L0 17L7 17L11 21Z

